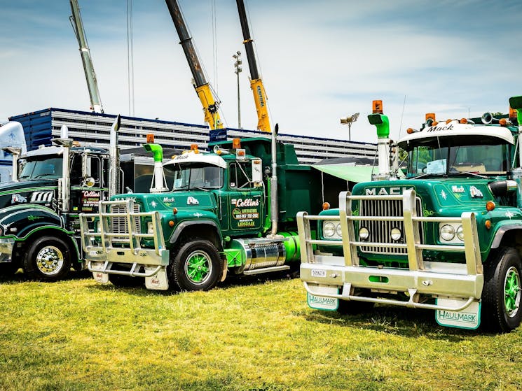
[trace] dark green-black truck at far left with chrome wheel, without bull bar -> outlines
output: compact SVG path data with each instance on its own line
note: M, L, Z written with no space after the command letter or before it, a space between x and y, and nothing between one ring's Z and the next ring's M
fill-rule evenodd
M148 190L153 159L140 152L119 154L119 117L109 148L81 147L62 127L51 146L13 153L13 181L0 184L0 273L22 268L36 280L65 278L85 269L78 214L125 187ZM143 152L141 152L143 151Z

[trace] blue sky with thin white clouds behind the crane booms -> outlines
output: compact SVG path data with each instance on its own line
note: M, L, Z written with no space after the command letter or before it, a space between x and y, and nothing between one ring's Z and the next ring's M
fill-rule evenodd
M106 113L129 115L125 0L78 0ZM245 53L233 0L179 0L221 118L238 126L233 53ZM392 138L437 119L508 110L522 94L519 0L245 0L270 120L287 134L375 142L366 115L382 99ZM213 7L214 6L214 7ZM181 45L163 0L134 0L134 114L202 124ZM212 12L215 8L215 13ZM0 122L90 101L67 0L0 0ZM212 28L215 20L215 34ZM248 66L242 127L257 123Z

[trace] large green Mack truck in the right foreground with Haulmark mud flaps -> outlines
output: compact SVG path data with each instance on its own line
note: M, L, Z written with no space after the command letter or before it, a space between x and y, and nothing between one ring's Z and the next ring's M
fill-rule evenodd
M430 118L396 145L382 111L369 115L378 133L377 180L341 192L338 210L298 213L310 307L359 312L378 303L433 309L448 327L518 327L522 97L509 103L518 120ZM408 157L403 179L397 159L390 162L397 147Z

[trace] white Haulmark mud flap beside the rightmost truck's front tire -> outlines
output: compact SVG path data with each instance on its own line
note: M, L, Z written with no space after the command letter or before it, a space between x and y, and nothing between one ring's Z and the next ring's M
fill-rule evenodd
M438 306L458 307L465 304L465 299L437 299ZM435 319L441 326L457 327L459 329L476 329L480 326L481 302L473 301L462 311L435 311Z

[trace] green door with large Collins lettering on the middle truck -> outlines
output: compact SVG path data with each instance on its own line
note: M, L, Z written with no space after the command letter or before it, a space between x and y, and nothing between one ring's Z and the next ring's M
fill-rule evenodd
M252 162L236 161L228 170L227 210L230 234L257 233L264 220L263 190L252 183Z

